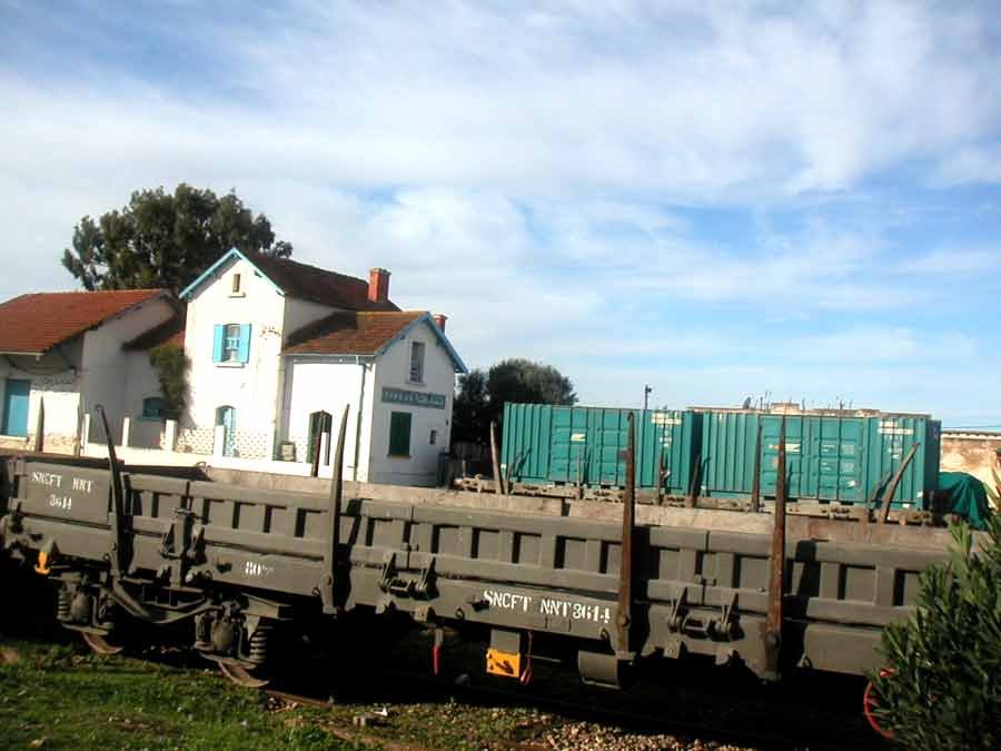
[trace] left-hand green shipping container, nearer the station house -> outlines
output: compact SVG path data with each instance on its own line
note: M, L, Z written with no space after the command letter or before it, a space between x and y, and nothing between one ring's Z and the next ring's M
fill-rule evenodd
M636 486L688 492L698 447L698 416L690 412L504 405L500 470L527 484L625 485L628 414L636 423Z

